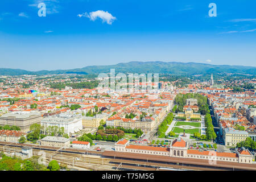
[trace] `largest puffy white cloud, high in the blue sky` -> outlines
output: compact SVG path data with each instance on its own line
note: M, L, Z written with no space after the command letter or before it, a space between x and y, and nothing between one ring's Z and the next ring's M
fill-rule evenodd
M83 14L79 14L77 16L79 16L80 18L86 17L92 21L95 21L97 18L100 18L103 23L106 22L108 24L112 24L114 22L114 20L117 19L114 16L112 16L112 14L108 13L108 11L102 11L102 10L92 11L89 14L83 13Z

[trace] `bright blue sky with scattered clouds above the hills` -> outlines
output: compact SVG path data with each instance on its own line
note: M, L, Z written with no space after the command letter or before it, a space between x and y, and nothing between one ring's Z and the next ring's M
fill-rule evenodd
M46 16L37 7L46 4ZM210 17L209 3L217 16ZM1 0L0 68L129 61L256 66L254 0Z

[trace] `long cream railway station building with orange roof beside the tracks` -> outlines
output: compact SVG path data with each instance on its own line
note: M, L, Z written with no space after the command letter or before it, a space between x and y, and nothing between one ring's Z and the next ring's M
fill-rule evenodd
M121 139L115 143L115 151L130 152L136 154L150 154L160 156L170 156L175 158L208 159L224 162L253 163L253 155L245 148L238 148L236 153L199 151L187 148L187 142L182 138L175 139L170 147L151 147L129 144L129 140Z

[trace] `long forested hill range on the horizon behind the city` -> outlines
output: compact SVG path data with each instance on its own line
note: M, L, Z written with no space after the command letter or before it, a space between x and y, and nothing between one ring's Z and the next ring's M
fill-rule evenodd
M212 65L202 63L180 63L180 62L162 62L133 61L129 63L119 63L115 65L88 66L84 68L56 70L56 71L25 71L22 69L0 68L0 75L47 75L61 73L77 74L98 74L110 73L110 69L115 69L115 73L170 73L173 75L198 75L209 73L242 73L256 75L256 67L246 67L239 65Z

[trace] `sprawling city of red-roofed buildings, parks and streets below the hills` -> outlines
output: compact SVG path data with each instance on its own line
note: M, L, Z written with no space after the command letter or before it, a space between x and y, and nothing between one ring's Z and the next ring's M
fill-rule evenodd
M143 92L99 89L90 75L0 76L0 170L28 170L41 150L34 170L139 169L130 159L256 169L256 80L228 76L160 75Z

